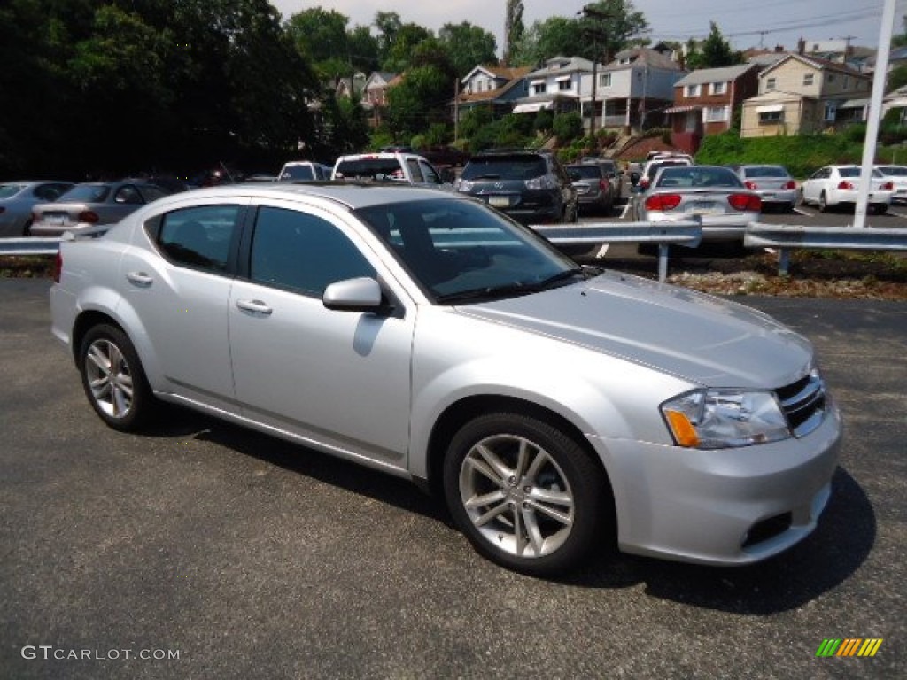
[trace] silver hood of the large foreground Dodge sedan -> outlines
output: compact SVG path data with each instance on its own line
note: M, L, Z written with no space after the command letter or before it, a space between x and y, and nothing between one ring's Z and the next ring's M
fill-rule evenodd
M781 387L813 359L805 337L761 312L617 273L460 312L713 387Z

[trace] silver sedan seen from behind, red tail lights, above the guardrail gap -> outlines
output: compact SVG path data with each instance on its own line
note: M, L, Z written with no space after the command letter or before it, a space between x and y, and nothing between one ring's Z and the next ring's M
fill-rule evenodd
M640 222L701 219L704 241L742 240L761 210L756 192L718 165L668 165L632 199L633 219Z

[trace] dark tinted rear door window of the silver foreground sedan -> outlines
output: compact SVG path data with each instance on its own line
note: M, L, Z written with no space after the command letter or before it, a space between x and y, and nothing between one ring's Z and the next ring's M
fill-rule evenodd
M158 244L180 265L222 272L237 232L239 206L204 206L164 216Z

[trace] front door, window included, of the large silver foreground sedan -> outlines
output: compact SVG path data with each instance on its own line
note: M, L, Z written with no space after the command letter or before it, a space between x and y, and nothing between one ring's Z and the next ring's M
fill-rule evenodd
M251 420L357 460L405 467L414 307L327 309L330 283L383 277L349 224L297 204L260 205L229 334L236 392Z

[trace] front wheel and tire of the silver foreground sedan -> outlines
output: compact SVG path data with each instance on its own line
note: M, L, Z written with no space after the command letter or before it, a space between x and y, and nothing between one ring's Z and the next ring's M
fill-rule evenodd
M549 423L492 413L463 425L444 460L444 496L473 547L533 576L562 573L610 540L597 461Z

